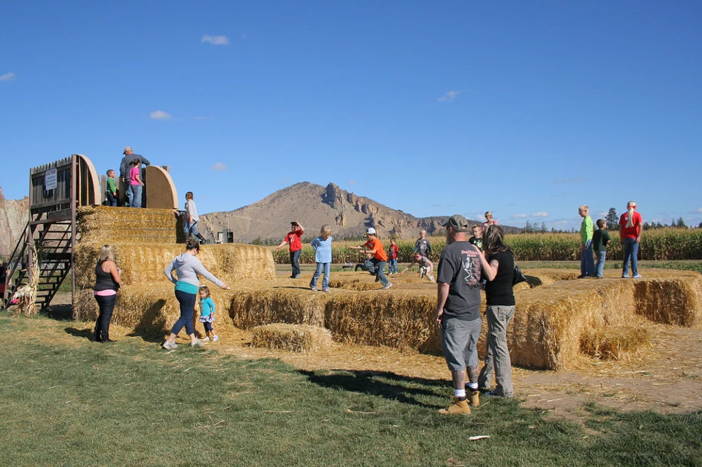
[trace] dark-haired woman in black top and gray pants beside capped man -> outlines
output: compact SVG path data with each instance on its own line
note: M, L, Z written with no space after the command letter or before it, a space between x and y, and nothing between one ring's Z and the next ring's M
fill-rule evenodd
M510 398L512 388L512 362L507 348L507 326L515 314L515 294L512 282L515 273L515 257L512 250L505 245L502 227L497 224L489 226L483 236L485 257L497 274L485 284L487 307L487 340L485 365L478 377L479 391L487 391L495 372L495 388L488 395Z

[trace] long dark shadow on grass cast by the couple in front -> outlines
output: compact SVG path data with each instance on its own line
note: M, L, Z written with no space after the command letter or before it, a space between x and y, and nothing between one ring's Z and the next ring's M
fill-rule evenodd
M449 381L442 379L409 378L392 372L378 372L368 370L329 370L310 372L300 370L310 382L324 388L340 389L355 393L377 395L388 400L397 400L405 404L420 405L421 407L442 408L420 399L443 395L446 388L450 387ZM422 386L422 387L420 387ZM434 391L430 388L436 388ZM440 388L440 389L439 389Z

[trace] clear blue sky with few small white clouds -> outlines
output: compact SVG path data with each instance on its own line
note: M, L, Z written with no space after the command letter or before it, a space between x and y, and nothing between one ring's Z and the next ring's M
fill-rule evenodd
M232 210L296 182L416 216L702 222L698 1L5 1L0 186L131 146Z

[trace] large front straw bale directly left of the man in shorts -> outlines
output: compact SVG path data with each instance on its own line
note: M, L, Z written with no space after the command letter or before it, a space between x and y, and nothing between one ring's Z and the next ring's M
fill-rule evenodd
M435 332L436 295L413 290L334 294L324 326L336 341L420 348Z

